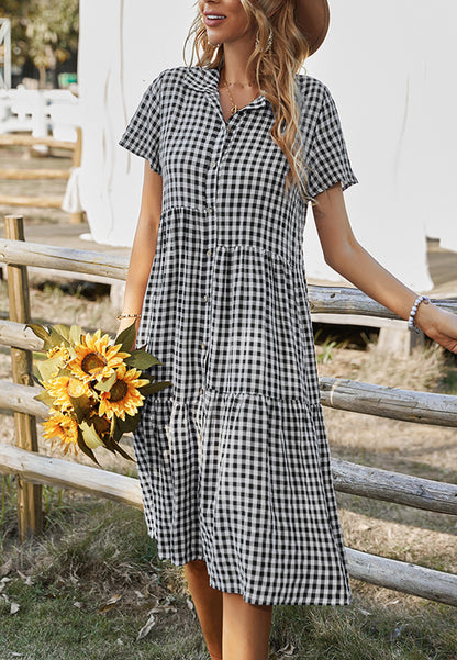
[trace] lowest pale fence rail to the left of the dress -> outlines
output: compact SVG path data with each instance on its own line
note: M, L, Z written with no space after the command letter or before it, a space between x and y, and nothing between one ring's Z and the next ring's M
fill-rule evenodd
M59 485L142 508L138 482L96 467L40 456L0 443L0 472L38 483Z

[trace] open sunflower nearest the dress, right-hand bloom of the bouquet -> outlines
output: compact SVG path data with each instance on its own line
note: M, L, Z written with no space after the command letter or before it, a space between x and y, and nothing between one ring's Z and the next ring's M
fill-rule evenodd
M148 384L148 380L141 379L138 369L129 369L121 365L116 369L116 381L108 392L100 394L99 415L105 415L111 420L114 415L125 420L125 413L135 415L143 405L144 395L138 388Z

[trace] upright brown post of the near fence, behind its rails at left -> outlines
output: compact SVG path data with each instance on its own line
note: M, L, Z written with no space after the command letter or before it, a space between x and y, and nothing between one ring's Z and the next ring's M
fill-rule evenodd
M5 215L4 235L9 239L24 240L24 219L22 215ZM10 320L30 323L29 279L25 266L8 266L8 297ZM22 385L33 385L32 351L11 347L13 381ZM29 451L38 450L36 417L14 413L15 445ZM18 478L18 524L21 541L43 529L42 486Z

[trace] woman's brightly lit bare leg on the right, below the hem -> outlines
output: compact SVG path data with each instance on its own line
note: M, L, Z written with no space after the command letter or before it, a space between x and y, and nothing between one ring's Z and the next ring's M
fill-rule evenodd
M224 660L267 660L272 605L253 605L224 592L223 615Z

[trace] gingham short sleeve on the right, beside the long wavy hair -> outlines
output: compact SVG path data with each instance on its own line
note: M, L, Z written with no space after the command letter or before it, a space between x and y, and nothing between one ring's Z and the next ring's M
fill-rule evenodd
M335 101L325 86L306 166L310 168L308 191L313 198L338 181L343 190L358 183L350 167Z

